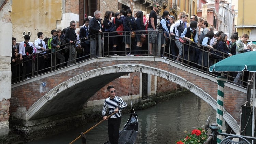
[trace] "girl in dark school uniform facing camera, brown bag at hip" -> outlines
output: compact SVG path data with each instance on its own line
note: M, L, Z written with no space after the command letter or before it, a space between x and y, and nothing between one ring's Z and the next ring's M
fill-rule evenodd
M123 25L124 31L129 31L124 33L123 43L126 43L126 54L131 55L131 37L135 34L133 30L136 30L136 21L134 17L132 17L131 9L126 10L126 17L123 19Z

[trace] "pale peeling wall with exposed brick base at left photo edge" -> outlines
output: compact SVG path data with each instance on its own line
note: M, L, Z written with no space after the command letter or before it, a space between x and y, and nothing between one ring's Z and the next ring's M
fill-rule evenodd
M2 1L0 3L2 5ZM12 23L11 5L9 1L0 11L0 138L8 135L9 107L11 98L11 48Z

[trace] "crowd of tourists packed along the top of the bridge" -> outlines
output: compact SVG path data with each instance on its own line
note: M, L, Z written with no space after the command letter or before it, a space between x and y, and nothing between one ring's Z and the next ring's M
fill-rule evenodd
M203 67L205 70L225 57L253 50L246 45L249 38L247 34L239 37L235 32L229 37L228 33L216 31L206 20L196 15L190 17L189 24L188 15L184 12L175 19L168 11L159 16L158 2L154 2L152 8L149 14L137 11L134 16L130 9L118 10L116 13L106 11L104 18L100 11L95 11L94 17L84 19L83 26L76 28L76 22L71 21L70 26L63 30L52 30L51 38L44 38L43 33L38 32L38 39L33 43L29 41L29 35L25 35L19 45L13 38L12 80L31 77L34 71L40 74L90 57L99 57L99 45L102 56L154 56L153 46L160 44L161 57L179 63L191 61L191 66ZM162 33L158 42L159 30ZM132 31L136 31L135 35ZM99 34L102 32L104 34ZM69 44L68 48L63 44ZM171 57L167 56L168 53L171 53ZM209 53L211 57L206 56ZM237 75L232 74L233 77ZM238 83L238 80L234 82Z

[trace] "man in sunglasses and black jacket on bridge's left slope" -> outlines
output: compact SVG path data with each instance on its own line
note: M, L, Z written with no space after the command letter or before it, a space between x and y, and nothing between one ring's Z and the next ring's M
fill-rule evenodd
M70 28L66 30L65 37L64 39L66 40L67 43L71 44L71 47L69 50L71 51L71 55L69 53L69 59L68 59L68 64L69 66L71 63L75 63L75 40L77 40L77 36L75 33L75 21L70 21Z

